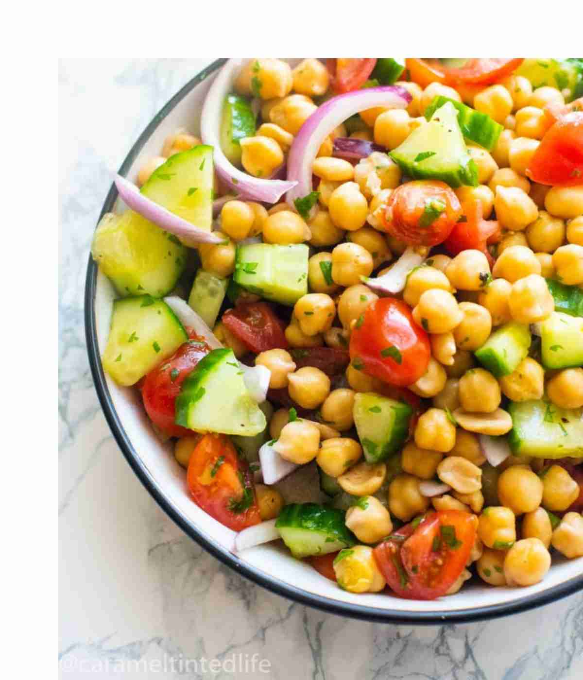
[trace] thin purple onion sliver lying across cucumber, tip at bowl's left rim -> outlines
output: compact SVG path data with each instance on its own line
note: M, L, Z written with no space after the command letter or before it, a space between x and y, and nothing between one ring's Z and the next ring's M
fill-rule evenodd
M116 175L114 181L122 201L128 207L131 207L132 210L145 217L146 220L150 220L150 222L154 222L154 224L157 224L165 231L178 236L185 245L194 243L222 243L224 241L224 237L204 231L204 229L190 224L190 222L170 212L162 205L159 205L159 203L154 203L152 199L144 196L137 186L126 180L125 177Z

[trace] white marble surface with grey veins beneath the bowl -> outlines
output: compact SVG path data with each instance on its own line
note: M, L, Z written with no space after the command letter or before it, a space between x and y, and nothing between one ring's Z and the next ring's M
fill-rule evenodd
M112 171L163 103L209 61L63 61L59 71L62 677L583 677L581 594L478 624L342 619L230 571L188 539L133 475L101 414L86 358L89 243Z

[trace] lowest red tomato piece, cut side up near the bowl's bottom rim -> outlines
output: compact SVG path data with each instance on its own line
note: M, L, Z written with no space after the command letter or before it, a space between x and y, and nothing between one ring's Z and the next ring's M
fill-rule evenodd
M476 541L476 515L462 510L428 513L383 541L374 550L388 586L411 600L435 600L462 573Z

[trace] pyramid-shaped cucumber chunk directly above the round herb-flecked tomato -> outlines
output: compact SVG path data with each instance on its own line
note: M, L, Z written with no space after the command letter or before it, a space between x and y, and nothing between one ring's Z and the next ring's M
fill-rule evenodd
M416 180L442 180L454 188L478 186L478 167L467 152L457 115L454 105L446 102L388 155Z

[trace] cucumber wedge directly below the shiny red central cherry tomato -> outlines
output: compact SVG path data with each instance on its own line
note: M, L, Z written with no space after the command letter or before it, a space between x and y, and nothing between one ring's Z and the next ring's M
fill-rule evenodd
M352 413L365 458L376 463L386 460L405 443L413 409L374 392L359 392L354 397Z

